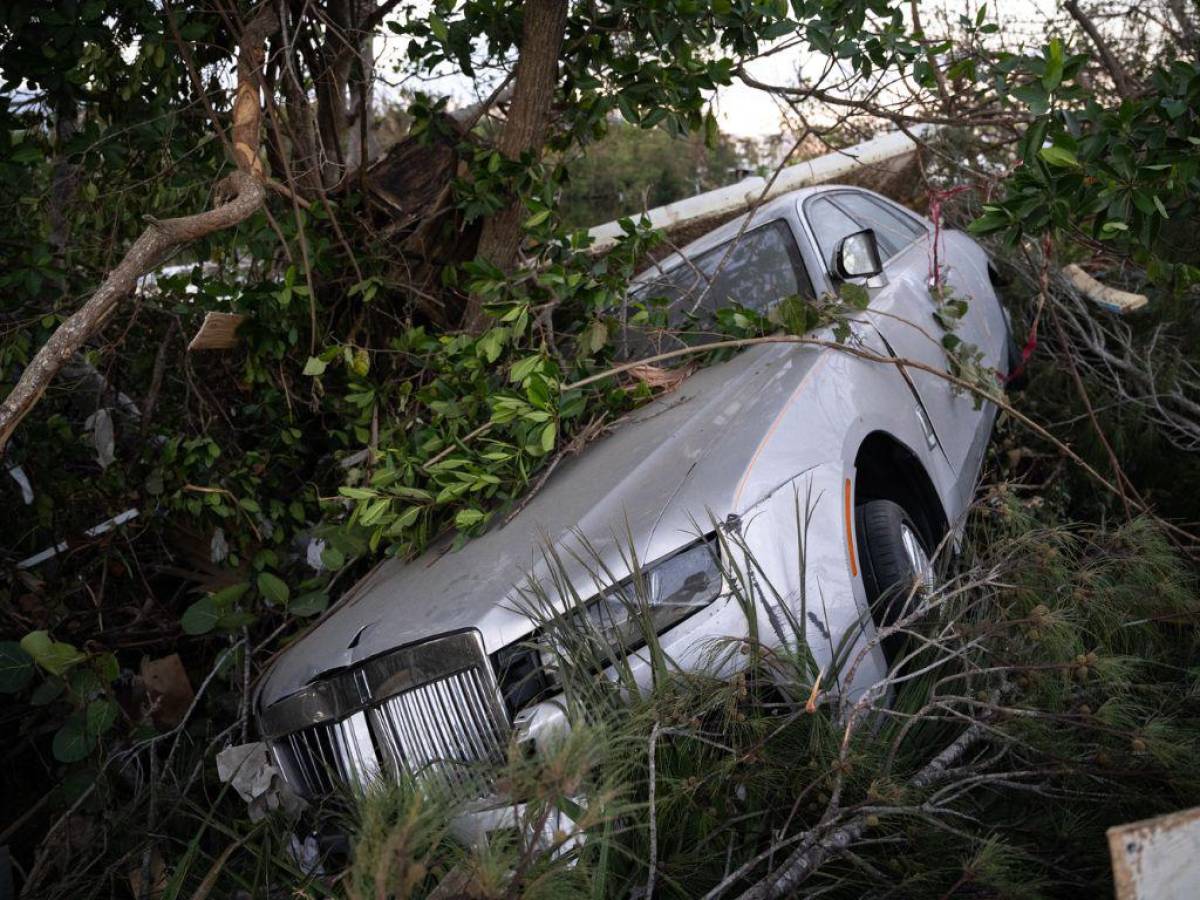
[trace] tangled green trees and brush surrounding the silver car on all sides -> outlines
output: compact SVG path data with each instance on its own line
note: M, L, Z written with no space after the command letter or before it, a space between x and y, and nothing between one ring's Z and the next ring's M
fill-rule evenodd
M1152 6L1117 34L1067 4L1021 44L1003 11L875 0L8 4L0 845L26 894L402 895L456 869L481 896L697 895L748 865L724 893L769 895L790 859L804 890L854 896L1102 889L1106 826L1196 803L1200 24ZM454 71L484 102L413 94L379 148L376 34L407 40L404 76ZM761 82L754 60L788 47L830 61ZM563 852L520 828L464 847L443 802L398 785L342 810L352 852L306 872L284 817L247 821L215 776L251 737L253 679L371 560L469 540L670 384L569 386L617 361L629 280L672 241L631 218L595 256L577 229L616 209L610 179L636 218L752 167L710 107L731 84L778 100L797 152L953 126L919 193L994 235L1031 383L964 558L911 623L906 670L928 671L857 716L815 689L803 640L720 648L750 667L664 672L512 762L523 815L583 833ZM208 205L208 230L157 223ZM126 257L144 229L169 241ZM1080 299L1067 262L1147 310ZM863 299L703 328L800 335ZM245 320L187 352L208 313ZM566 666L594 692L587 670Z

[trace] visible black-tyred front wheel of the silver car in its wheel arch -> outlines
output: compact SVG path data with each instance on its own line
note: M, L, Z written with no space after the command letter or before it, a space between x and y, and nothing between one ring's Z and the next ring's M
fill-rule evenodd
M877 628L900 619L911 601L934 587L934 564L925 539L904 508L892 500L868 500L856 514L858 559L866 601ZM922 587L912 592L913 581ZM910 595L912 595L910 598ZM883 653L894 661L902 635L883 640Z

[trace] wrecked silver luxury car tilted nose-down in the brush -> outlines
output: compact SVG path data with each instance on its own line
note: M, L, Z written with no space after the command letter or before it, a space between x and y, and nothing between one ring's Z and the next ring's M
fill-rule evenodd
M553 581L547 536L586 539L617 582L631 575L622 541L632 541L658 644L686 670L704 665L714 641L746 635L712 535L696 528L732 523L773 586L755 598L761 620L793 605L818 664L847 637L865 654L854 683L830 691L877 684L888 660L871 642L876 601L931 577L932 553L953 542L972 498L996 413L937 374L948 362L931 293L935 239L941 283L967 301L954 335L983 366L1007 368L1012 338L984 251L857 187L779 197L640 276L635 298L665 298L689 320L731 304L766 312L846 282L865 288L869 306L841 344L762 343L692 373L456 552L436 546L378 565L258 686L258 726L289 785L316 797L385 773L454 784L502 762L511 740L536 750L569 727L553 673L535 674L538 622L520 595L530 577ZM804 516L798 497L808 498ZM596 568L577 553L558 559L592 598L575 610L562 600L564 616L607 602ZM784 636L764 629L761 640ZM648 680L637 643L623 648L623 665Z

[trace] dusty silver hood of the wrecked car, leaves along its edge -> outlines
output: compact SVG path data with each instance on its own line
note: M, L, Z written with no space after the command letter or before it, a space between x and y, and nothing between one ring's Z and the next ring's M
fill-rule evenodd
M703 368L565 458L508 524L455 552L445 542L412 562L380 563L276 661L260 704L439 634L476 628L488 653L524 637L533 623L520 611L521 586L530 577L547 589L553 583L544 556L550 545L560 551L570 583L588 596L596 590L588 574L596 558L619 578L629 572L623 556L630 546L653 562L710 530L714 520L752 506L760 498L739 496L743 478L818 355L764 344ZM797 448L796 466L778 481L816 462Z

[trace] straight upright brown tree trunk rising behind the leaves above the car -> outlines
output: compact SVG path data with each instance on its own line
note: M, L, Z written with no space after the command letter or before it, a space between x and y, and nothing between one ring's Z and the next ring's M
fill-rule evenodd
M566 0L528 0L521 26L512 103L500 132L497 149L510 160L532 151L541 155L550 126L550 110L558 82L558 54L566 30ZM511 271L521 247L521 222L524 206L520 198L484 222L479 256L503 271ZM470 298L463 325L481 331L486 325L482 302Z

